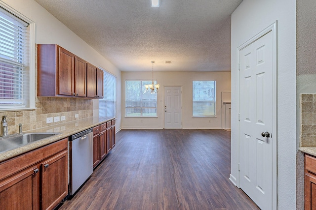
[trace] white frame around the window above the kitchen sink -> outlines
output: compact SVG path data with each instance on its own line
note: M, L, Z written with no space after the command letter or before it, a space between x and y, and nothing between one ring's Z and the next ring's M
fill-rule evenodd
M35 98L36 98L36 81L35 81L35 76L36 76L36 71L35 71L35 60L36 60L36 48L35 48L35 22L29 19L28 17L24 16L20 12L16 11L9 5L5 4L4 2L0 1L0 7L3 9L7 10L9 13L13 14L14 16L22 19L23 21L29 23L29 94L28 94L28 100L29 104L26 105L26 107L13 107L13 106L6 106L5 108L0 108L0 112L2 111L25 111L25 110L34 110L36 109L36 103L35 103Z

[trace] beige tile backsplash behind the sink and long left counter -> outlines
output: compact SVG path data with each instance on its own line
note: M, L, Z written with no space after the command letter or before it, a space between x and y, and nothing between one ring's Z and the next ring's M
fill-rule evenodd
M36 108L31 111L0 112L0 117L7 116L8 133L18 133L19 123L23 132L50 125L93 117L93 104L90 99L37 97ZM75 115L79 115L75 118ZM62 117L63 121L46 123L46 118ZM1 117L2 119L2 117ZM1 120L0 119L0 120Z

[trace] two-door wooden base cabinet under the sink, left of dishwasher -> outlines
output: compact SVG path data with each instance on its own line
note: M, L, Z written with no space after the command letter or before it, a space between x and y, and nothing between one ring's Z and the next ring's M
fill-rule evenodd
M68 194L68 139L0 163L5 210L51 210Z

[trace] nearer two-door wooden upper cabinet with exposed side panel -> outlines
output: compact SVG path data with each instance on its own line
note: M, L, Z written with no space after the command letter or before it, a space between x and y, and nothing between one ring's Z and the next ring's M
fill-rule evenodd
M55 44L38 45L38 96L86 97L87 62Z

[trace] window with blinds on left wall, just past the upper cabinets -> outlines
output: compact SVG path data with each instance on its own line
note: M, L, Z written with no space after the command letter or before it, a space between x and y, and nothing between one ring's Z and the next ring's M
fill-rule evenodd
M99 116L114 118L117 116L117 78L104 71L103 99L99 99Z

